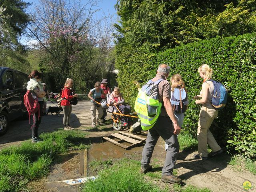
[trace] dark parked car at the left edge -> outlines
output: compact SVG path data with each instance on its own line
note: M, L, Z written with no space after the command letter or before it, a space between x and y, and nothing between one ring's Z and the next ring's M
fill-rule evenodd
M0 135L6 133L10 121L26 115L23 96L28 81L27 74L0 67Z

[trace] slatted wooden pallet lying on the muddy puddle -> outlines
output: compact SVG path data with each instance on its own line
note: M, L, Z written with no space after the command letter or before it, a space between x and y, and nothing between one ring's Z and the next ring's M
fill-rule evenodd
M109 137L103 137L103 138L115 145L118 145L118 146L124 148L124 149L130 149L134 146L141 145L142 143L144 143L146 141L146 138L143 138L143 137L140 137L137 135L133 135L130 133L125 133L125 132L112 133L110 135L111 135L110 137L118 138L119 140L116 141ZM125 144L122 144L122 142L128 142L128 143L131 143L131 145L127 146Z

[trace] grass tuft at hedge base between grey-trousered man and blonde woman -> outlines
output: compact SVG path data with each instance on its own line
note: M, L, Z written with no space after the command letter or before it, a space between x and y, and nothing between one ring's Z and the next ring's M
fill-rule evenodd
M193 138L190 134L179 134L178 140L180 143L180 150L196 150L198 146L198 141Z

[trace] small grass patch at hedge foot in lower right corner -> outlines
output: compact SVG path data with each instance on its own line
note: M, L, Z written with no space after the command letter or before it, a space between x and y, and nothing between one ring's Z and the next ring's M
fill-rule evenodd
M234 156L231 158L230 162L228 162L233 168L239 172L243 170L248 170L252 174L256 175L256 161L251 159L245 159L241 156Z

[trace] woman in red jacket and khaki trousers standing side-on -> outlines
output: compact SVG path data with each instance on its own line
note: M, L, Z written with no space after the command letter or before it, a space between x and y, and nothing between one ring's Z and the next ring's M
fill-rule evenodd
M77 94L72 95L72 92L70 88L73 86L73 80L68 78L65 82L64 88L62 89L62 96L61 98L61 107L64 112L64 117L63 117L63 126L64 130L74 130L74 128L70 127L70 115L72 112L72 105L70 104L70 100L72 98L77 97Z

